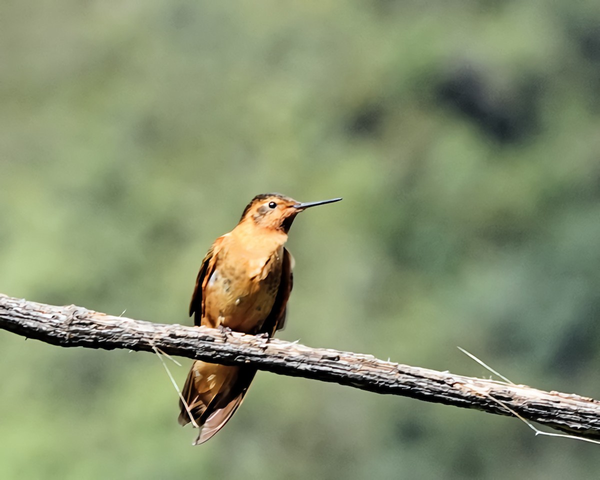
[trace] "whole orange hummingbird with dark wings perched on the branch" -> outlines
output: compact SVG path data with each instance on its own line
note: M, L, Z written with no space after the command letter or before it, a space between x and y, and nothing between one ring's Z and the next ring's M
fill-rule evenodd
M284 248L296 215L338 202L296 202L279 193L254 197L235 228L218 237L202 260L190 302L194 325L271 337L286 320L294 260ZM193 445L210 439L242 403L256 368L196 360L179 400L179 424L194 419Z

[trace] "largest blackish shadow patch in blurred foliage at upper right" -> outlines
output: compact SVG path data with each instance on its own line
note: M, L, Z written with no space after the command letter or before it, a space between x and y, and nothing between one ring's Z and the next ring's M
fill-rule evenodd
M500 143L525 140L538 130L538 80L521 80L499 91L481 71L459 67L442 75L436 97L442 106L457 110Z

